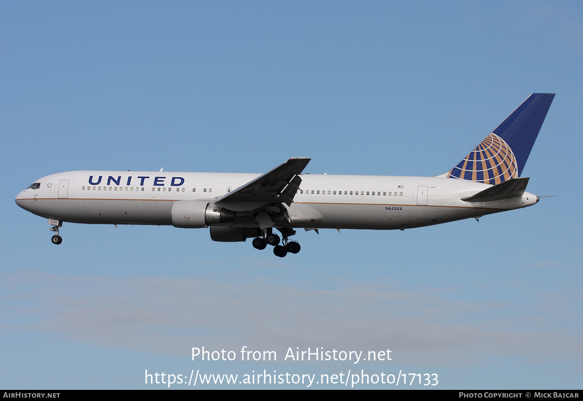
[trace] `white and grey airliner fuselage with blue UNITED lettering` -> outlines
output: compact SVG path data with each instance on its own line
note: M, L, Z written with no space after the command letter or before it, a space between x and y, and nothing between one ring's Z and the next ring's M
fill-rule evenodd
M259 174L135 171L71 171L45 176L38 189L18 194L27 211L62 222L172 225L174 201L213 201ZM434 225L535 204L522 197L490 202L462 197L490 187L442 177L301 175L294 203L287 207L296 228L404 229ZM258 226L253 218L222 225Z

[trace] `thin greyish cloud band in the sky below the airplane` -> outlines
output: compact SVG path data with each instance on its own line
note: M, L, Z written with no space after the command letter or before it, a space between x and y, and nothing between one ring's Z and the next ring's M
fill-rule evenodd
M203 278L29 272L7 279L21 290L4 289L3 303L32 322L5 328L48 331L106 347L161 354L185 354L202 345L283 354L290 346L390 347L410 362L448 365L474 363L482 354L538 361L543 348L545 361L583 356L580 336L553 330L548 318L537 322L546 323L545 330L518 329L504 318L488 317L507 304L449 300L384 283L345 281L340 289L322 290Z

